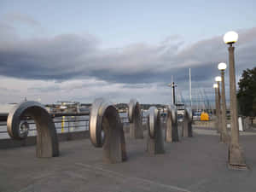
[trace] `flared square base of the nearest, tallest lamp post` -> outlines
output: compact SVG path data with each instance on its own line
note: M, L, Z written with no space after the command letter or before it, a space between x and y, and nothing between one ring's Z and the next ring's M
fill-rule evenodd
M247 170L247 165L243 157L242 149L239 145L230 144L229 147L229 166L232 169Z

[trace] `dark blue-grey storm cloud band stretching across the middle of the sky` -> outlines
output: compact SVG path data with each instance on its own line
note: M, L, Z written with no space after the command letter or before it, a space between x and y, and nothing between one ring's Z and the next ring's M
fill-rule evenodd
M4 25L1 28L12 30ZM238 70L253 67L256 61L256 28L239 33ZM227 61L227 56L227 45L220 36L191 45L172 36L160 44L131 44L118 49L101 49L91 35L29 40L0 37L0 75L20 79L65 81L92 77L125 84L170 82L172 75L176 81L189 79L190 67L194 81L212 81L218 74L218 62Z

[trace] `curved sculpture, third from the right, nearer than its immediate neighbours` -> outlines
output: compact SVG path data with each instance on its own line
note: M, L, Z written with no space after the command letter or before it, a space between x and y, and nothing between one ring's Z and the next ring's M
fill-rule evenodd
M157 108L148 109L148 154L164 154L164 138L160 127L160 112Z

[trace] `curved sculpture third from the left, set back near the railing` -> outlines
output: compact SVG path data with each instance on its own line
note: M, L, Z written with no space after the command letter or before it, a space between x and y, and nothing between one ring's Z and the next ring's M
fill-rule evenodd
M143 122L139 102L131 99L128 104L128 118L130 121L130 137L143 138Z

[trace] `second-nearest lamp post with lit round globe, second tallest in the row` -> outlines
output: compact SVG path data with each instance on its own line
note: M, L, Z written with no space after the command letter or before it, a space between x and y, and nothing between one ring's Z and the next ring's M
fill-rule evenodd
M227 68L227 64L220 62L218 64L218 70L221 74L221 122L222 122L222 131L223 137L220 138L220 141L223 143L229 143L229 134L227 131L227 121L226 121L226 96L225 96L225 84L224 84L224 73Z

